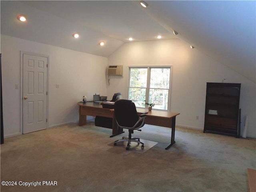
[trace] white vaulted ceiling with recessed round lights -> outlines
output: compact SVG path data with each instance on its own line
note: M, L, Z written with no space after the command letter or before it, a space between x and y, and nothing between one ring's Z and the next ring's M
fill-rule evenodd
M1 34L104 57L129 37L179 38L256 82L256 1L145 2L147 8L139 1L0 1Z

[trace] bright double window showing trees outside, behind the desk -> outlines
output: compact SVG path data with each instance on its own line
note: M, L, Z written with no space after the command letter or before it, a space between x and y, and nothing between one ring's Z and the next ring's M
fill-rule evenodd
M136 107L145 107L144 100L154 109L168 110L170 104L171 66L130 67L128 99Z

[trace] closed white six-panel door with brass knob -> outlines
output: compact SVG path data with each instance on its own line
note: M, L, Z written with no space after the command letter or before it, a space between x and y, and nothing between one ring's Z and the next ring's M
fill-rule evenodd
M23 57L23 133L47 128L48 57L22 54Z

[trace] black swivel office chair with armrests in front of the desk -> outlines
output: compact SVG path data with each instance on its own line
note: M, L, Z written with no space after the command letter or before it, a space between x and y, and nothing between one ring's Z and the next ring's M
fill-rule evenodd
M120 140L116 140L114 145L118 142L128 141L126 150L130 149L131 142L137 142L138 144L142 144L141 148L144 148L144 143L140 142L140 138L132 138L132 133L134 130L139 130L139 128L144 126L144 120L146 118L146 114L141 114L138 116L135 104L131 100L120 99L117 100L114 104L114 113L116 116L116 122L120 128L128 129L129 136L123 137Z

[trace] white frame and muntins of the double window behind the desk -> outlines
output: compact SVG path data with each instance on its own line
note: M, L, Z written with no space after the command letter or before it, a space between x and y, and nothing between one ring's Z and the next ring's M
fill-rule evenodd
M169 82L169 89L168 89L168 105L167 105L167 110L164 110L164 109L154 109L154 110L158 110L158 111L168 111L168 112L170 112L170 108L171 108L171 92L172 92L172 66L171 65L167 65L167 66L128 66L128 68L129 68L128 97L129 97L129 89L130 88L134 88L134 87L130 86L130 72L131 72L131 68L147 68L148 69L147 85L146 85L146 102L148 102L149 92L150 92L151 68L170 68L170 82ZM144 108L146 108L146 106L145 107L136 106L136 108L143 108L144 109Z

